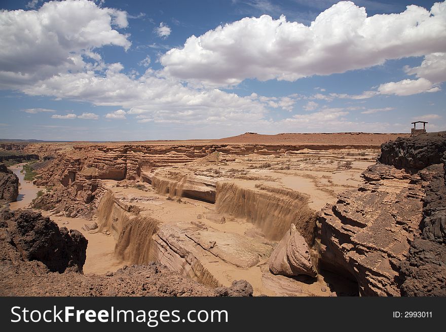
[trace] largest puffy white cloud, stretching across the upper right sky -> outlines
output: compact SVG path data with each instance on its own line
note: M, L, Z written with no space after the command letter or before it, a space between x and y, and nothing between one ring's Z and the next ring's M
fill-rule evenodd
M397 36L397 37L396 37ZM415 5L400 14L367 17L365 8L340 2L310 26L284 16L243 18L191 36L161 57L165 73L205 85L247 78L295 81L370 67L387 59L444 52L446 4Z

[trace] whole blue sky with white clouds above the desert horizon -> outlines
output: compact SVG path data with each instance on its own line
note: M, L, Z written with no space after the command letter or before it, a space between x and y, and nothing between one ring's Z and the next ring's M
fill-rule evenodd
M446 130L444 2L1 8L0 138L407 132L415 120Z

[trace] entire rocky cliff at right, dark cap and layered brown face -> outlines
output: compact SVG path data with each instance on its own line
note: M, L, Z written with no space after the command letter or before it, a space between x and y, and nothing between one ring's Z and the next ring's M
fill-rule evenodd
M445 132L384 143L365 184L318 217L320 268L364 296L445 296L445 151Z

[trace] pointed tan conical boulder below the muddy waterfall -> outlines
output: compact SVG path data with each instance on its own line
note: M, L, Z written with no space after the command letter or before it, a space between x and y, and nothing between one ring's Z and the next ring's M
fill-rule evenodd
M310 257L310 249L303 236L291 224L282 240L274 248L269 267L274 274L284 276L298 276L306 274L315 277L317 272L313 267Z

